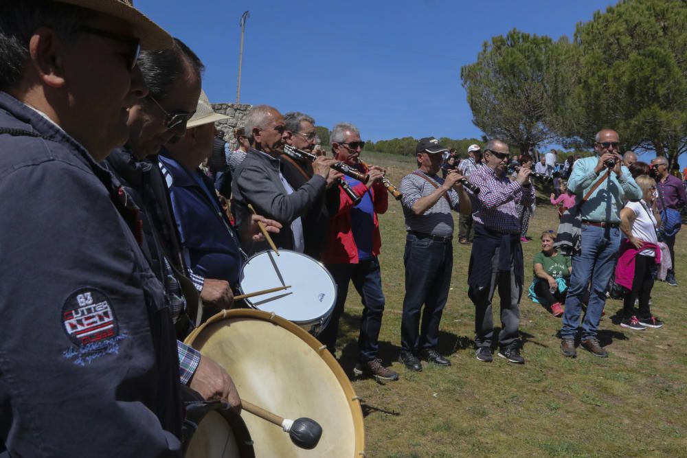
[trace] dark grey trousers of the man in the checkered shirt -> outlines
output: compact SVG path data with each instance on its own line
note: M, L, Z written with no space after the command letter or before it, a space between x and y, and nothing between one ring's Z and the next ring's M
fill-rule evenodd
M475 345L477 347L491 347L494 334L491 300L496 288L499 288L501 298L501 325L499 333L499 345L505 347L518 338L518 326L520 324L520 296L522 285L515 281L513 261L511 260L510 272L499 271L499 248L496 249L491 260L482 262L491 263L491 284L488 288L475 288L471 286L468 296L475 304Z

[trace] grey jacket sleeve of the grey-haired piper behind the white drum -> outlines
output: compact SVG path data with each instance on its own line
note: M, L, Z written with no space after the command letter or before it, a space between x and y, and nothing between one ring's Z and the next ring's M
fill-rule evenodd
M275 183L273 173L255 165L244 167L236 176L236 186L247 203L252 203L258 214L290 225L306 214L319 196L324 194L327 181L315 175L292 194L284 194L281 183Z

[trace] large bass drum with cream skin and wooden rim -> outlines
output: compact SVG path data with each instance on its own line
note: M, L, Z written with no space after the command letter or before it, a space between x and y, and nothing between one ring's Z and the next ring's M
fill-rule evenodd
M186 343L214 359L234 379L241 398L285 418L322 426L313 450L297 448L282 431L243 411L258 458L365 456L360 402L335 358L299 326L260 310L225 310Z

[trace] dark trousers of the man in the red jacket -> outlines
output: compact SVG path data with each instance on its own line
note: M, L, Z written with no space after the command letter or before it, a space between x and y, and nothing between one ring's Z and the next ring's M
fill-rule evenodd
M376 358L379 348L379 328L381 328L384 312L384 293L382 293L379 261L374 257L372 260L358 264L326 264L326 268L337 284L337 304L329 324L319 334L318 339L334 354L339 334L339 319L343 314L343 305L346 304L348 284L352 281L363 302L363 316L358 337L359 359L361 363L367 363Z

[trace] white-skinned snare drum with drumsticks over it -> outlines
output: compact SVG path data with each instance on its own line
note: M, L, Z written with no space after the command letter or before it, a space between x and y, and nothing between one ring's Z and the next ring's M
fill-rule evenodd
M290 285L245 301L251 308L293 321L315 336L329 323L337 301L337 285L329 271L297 251L280 250L279 255L260 251L249 257L239 278L242 294Z

